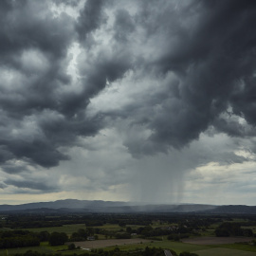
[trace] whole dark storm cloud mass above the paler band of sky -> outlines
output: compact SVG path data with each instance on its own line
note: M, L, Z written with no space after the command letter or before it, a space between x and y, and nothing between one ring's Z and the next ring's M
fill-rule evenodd
M104 129L135 159L186 151L210 133L256 152L241 142L255 137L255 1L13 0L1 1L0 13L7 174L72 161L70 150L91 150L83 139Z

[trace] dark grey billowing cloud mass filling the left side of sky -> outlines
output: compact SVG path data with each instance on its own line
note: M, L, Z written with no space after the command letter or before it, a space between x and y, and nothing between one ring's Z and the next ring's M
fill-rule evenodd
M59 147L75 144L78 136L94 135L101 127L97 117L83 114L91 94L65 92L71 85L65 59L76 35L75 20L64 13L54 17L49 8L46 2L1 2L5 26L0 30L0 64L7 77L1 82L0 97L2 163L19 158L56 166L68 159ZM110 77L115 77L111 66ZM97 74L92 76L99 80ZM89 80L95 82L93 77ZM105 78L100 83L104 86ZM30 131L29 137L25 134L30 128L36 134Z

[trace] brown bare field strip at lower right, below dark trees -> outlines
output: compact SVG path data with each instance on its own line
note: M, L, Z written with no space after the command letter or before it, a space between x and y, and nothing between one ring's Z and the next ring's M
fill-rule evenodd
M194 245L224 245L239 242L249 242L252 239L252 237L196 237L182 239L181 241L183 243Z

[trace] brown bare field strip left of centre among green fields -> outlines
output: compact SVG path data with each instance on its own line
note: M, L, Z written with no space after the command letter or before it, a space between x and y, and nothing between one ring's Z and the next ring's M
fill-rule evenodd
M115 247L123 245L132 245L140 243L149 243L149 240L145 239L107 239L107 240L96 240L96 241L84 241L84 242L75 242L76 247L82 248L102 248L102 247Z

